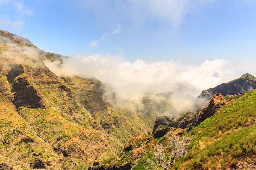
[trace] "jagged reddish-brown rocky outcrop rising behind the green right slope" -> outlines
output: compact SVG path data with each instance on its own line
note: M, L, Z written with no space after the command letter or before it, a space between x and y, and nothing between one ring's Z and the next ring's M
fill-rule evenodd
M222 107L225 103L226 100L223 98L222 94L218 92L213 95L208 106L202 110L195 110L193 112L189 111L184 113L184 115L173 117L172 119L166 116L157 117L157 119L155 120L153 133L155 133L157 128L161 125L182 129L197 126L208 117L214 115L216 110Z

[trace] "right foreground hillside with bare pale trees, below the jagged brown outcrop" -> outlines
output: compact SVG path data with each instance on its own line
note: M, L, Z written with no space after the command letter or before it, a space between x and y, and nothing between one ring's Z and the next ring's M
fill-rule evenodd
M225 105L195 128L159 126L153 135L132 137L119 157L89 169L256 169L256 90L224 98Z

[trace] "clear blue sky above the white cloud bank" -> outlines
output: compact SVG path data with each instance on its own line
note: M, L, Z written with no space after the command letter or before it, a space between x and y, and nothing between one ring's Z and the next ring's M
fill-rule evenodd
M126 60L253 59L255 0L1 0L0 28L45 51Z

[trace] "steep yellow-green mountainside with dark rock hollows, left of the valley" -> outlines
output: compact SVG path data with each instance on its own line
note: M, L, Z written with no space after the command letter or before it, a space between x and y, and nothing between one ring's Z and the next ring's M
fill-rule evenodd
M63 57L0 31L0 168L86 169L117 155L146 124L106 103L97 79L57 77Z

